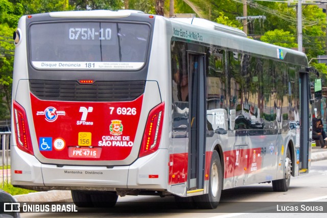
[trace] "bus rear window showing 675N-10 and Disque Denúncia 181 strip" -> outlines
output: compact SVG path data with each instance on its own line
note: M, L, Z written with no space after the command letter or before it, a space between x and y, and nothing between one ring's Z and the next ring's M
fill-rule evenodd
M34 24L31 61L39 69L135 70L145 63L149 32L138 23Z

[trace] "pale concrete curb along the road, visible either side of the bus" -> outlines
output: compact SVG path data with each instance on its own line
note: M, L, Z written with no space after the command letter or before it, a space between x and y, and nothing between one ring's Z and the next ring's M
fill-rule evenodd
M327 159L327 149L311 149L311 162ZM73 202L71 191L51 190L32 192L26 195L16 195L14 198L18 202Z

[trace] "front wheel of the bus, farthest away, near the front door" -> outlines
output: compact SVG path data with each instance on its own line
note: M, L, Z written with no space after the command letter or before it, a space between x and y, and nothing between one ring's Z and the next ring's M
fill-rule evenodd
M290 149L287 149L285 157L285 174L284 179L278 179L272 181L272 189L274 191L287 191L290 187L292 176L292 159Z

